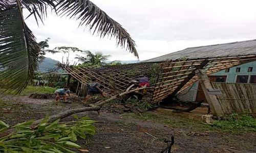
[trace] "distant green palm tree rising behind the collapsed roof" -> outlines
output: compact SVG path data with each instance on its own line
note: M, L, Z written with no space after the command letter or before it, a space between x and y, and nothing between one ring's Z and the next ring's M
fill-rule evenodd
M105 64L105 62L108 60L110 55L103 55L101 52L96 52L93 54L89 50L84 51L86 52L86 57L77 56L76 59L78 61L83 62L83 64L88 65L102 65Z

